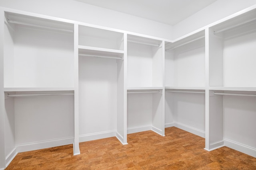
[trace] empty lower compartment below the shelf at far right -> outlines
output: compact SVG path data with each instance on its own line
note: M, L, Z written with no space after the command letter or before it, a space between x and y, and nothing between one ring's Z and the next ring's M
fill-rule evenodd
M210 149L227 146L256 157L256 92L210 90Z

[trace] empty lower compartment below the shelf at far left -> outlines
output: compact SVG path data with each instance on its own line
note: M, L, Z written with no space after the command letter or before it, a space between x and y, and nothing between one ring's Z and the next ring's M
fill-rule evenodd
M5 90L5 153L74 143L74 91Z

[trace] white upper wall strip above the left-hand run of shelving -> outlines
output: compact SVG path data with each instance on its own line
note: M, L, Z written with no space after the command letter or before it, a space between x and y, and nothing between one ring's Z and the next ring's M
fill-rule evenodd
M75 0L1 0L0 6L155 37L171 38L172 26L170 25L92 6Z

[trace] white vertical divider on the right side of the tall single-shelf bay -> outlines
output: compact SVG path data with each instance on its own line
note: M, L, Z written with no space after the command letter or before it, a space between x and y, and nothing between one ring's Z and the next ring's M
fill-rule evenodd
M117 61L117 132L116 138L123 144L127 143L127 34L123 37L123 60Z

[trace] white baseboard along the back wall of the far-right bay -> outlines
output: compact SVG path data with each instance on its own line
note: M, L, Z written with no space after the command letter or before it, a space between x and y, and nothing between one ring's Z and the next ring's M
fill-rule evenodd
M249 146L246 146L241 143L238 143L238 142L235 142L235 141L232 141L229 139L225 139L225 138L223 138L223 141L224 141L224 145L226 147L229 147L234 150L238 150L239 152L248 154L248 155L256 158L256 148L252 148L252 147L249 147Z

